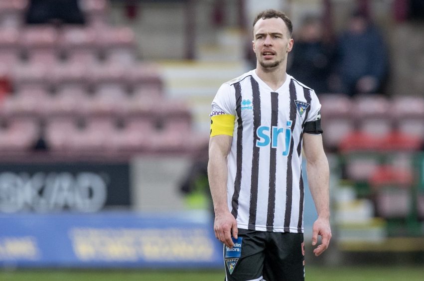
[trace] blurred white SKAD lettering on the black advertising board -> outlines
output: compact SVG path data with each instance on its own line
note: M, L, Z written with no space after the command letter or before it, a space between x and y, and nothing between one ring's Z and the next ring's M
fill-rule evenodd
M105 179L93 172L0 173L0 211L70 209L95 212L107 199Z

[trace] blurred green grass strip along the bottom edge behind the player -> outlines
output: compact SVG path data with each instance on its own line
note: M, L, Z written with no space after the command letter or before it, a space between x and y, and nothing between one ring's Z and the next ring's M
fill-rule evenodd
M306 267L306 281L423 281L424 267ZM223 271L18 270L1 281L223 281Z

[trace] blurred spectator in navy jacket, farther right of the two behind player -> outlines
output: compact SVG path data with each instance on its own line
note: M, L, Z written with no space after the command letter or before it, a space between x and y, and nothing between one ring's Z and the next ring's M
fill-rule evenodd
M364 13L352 13L337 47L335 91L355 94L381 93L388 73L386 45L376 26Z

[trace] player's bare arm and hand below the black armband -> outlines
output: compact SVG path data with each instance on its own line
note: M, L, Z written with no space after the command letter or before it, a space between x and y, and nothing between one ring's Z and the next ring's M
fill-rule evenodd
M320 235L321 245L313 250L315 256L319 256L328 248L331 240L329 167L321 135L303 134L303 151L307 161L309 189L318 213L312 229L312 245L316 245Z

